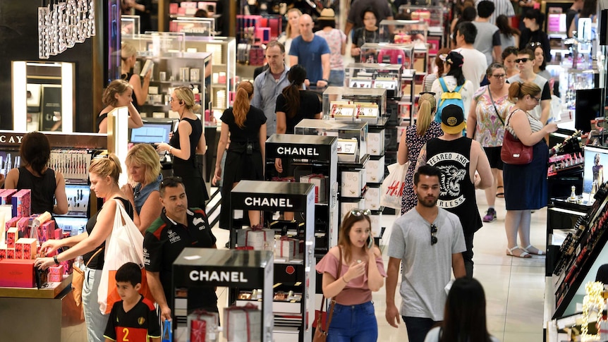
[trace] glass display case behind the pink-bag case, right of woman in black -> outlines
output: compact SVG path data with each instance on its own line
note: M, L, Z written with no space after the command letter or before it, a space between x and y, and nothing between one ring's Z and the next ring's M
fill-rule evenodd
M410 44L427 42L429 24L424 20L382 20L380 22L380 42Z

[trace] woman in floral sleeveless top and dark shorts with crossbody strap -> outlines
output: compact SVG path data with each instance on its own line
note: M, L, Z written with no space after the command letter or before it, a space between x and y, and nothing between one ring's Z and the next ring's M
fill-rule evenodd
M496 203L498 181L502 178L502 160L500 151L504 137L504 119L513 104L509 102L509 84L506 83L506 70L502 64L493 63L487 68L489 85L480 87L473 96L466 123L468 138L480 143L490 161L494 182L485 189L488 209L482 221L496 220Z

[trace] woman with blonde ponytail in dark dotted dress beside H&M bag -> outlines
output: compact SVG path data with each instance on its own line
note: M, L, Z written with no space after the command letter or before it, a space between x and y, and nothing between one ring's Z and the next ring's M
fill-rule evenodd
M402 215L418 204L418 197L414 194L413 177L420 149L427 141L439 138L444 134L441 124L433 120L435 111L437 111L437 100L434 94L422 92L418 97L418 120L415 125L406 127L406 131L401 134L397 161L399 161L399 165L411 161L406 174L403 197L401 197Z

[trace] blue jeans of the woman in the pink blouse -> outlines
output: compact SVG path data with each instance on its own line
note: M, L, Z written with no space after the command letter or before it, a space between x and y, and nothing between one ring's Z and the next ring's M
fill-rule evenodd
M374 304L334 306L327 342L373 342L378 339L378 322Z

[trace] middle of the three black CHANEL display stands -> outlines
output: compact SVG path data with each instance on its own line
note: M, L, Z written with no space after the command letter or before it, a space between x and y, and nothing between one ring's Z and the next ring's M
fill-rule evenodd
M275 212L276 210L291 210L303 215L302 228L297 229L298 240L303 241L302 259L274 262L272 275L274 285L264 289L267 293L283 291L301 293L301 299L296 305L288 308L289 317L285 315L285 306L274 300L274 338L284 338L282 341L310 341L312 338L312 317L315 317L315 187L308 183L288 183L269 181L241 181L231 190L231 212L235 210L260 210ZM231 228L233 221L231 221ZM272 226L271 226L272 227ZM236 231L231 229L231 246L236 242ZM272 260L274 261L274 260ZM269 261L272 263L272 261ZM255 289L248 285L247 288ZM236 299L237 293L229 294L229 300ZM268 302L267 302L268 303ZM294 304L294 303L287 303ZM281 311L278 311L281 310ZM273 326L273 325L271 325ZM297 338L296 338L297 336Z

